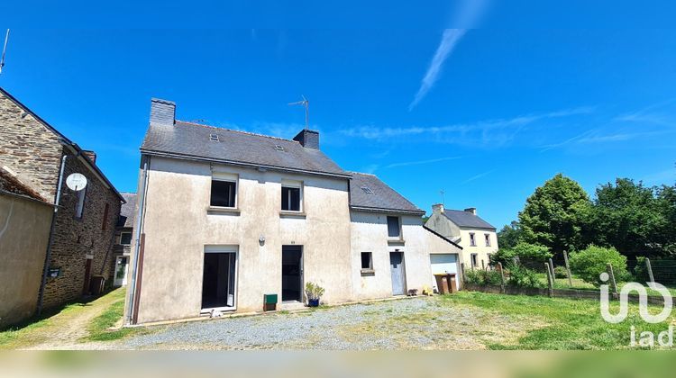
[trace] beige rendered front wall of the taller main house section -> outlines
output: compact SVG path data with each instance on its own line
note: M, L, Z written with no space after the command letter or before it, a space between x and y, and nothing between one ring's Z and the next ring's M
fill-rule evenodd
M213 170L239 175L239 214L207 211ZM303 182L305 218L280 215L282 179ZM142 232L139 323L199 315L206 245L239 248L237 311L260 311L266 293L281 299L283 245L303 246L304 282L326 289L322 302L352 298L346 179L151 157Z

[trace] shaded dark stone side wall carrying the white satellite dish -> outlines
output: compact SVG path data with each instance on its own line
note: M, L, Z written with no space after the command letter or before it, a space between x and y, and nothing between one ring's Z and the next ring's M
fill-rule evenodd
M64 177L76 172L87 177L85 207L82 218L78 219L78 193L64 185L50 258L50 267L60 268L60 273L58 277L47 279L45 308L73 301L88 292L88 287L85 287L87 256L92 260L90 276L103 275L106 284L112 284L111 260L114 259L114 233L120 215L120 199L87 168L83 157L69 154ZM106 203L108 211L104 220Z

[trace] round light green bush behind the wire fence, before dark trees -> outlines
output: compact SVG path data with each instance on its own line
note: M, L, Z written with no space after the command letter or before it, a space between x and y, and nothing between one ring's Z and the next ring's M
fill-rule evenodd
M607 272L607 264L613 265L616 281L625 281L629 278L626 270L626 256L620 255L614 247L598 247L590 245L580 252L571 254L571 270L589 284L600 285L598 278Z

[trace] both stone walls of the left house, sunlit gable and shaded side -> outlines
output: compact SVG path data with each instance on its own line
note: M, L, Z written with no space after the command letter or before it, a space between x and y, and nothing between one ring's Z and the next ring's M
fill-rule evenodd
M80 148L0 88L0 166L11 169L51 204L56 202L63 170L58 211L50 220L46 277L34 277L41 282L42 307L92 293L94 277L111 275L114 231L123 202L96 166L96 154ZM84 190L69 190L65 180L72 173L85 175Z

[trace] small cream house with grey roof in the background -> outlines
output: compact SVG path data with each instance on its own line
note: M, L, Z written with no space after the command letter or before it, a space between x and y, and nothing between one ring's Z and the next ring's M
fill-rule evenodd
M462 263L466 269L488 266L490 255L498 251L496 228L482 220L473 207L445 210L443 204L435 204L425 227L462 247Z

